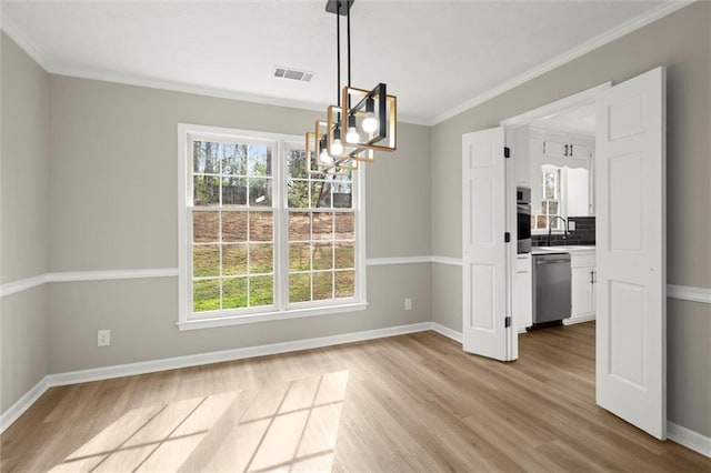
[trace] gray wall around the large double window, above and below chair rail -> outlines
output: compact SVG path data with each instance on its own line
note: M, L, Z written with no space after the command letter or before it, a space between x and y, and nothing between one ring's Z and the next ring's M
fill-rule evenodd
M177 124L301 135L322 114L52 76L51 271L176 268ZM430 128L367 169L368 258L430 253ZM180 332L177 278L56 283L50 372L429 321L429 264L370 266L367 311ZM403 299L413 298L412 311ZM109 348L97 330L111 329Z

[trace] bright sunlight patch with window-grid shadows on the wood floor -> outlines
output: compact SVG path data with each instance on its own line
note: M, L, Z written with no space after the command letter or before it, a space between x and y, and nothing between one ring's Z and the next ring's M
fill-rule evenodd
M134 409L51 472L331 471L348 371Z

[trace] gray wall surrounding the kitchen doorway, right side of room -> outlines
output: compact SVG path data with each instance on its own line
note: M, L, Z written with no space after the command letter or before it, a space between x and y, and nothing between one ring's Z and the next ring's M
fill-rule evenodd
M621 82L665 66L668 282L711 288L710 26L711 3L698 2L435 125L431 158L433 254L461 258L457 171L463 133L495 127L503 119L599 83ZM432 286L432 318L461 331L461 268L442 265L434 268L433 274L438 278ZM668 309L669 419L709 436L711 306L670 301Z

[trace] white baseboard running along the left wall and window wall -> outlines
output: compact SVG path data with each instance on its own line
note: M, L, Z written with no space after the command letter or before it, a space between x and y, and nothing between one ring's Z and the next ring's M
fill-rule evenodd
M110 380L113 378L132 376L136 374L154 373L166 370L199 366L210 363L243 360L254 356L266 356L279 353L297 352L344 343L362 342L387 336L404 335L408 333L432 330L431 322L420 322L409 325L389 326L385 329L367 330L362 332L344 333L341 335L321 336L318 339L298 340L293 342L272 343L268 345L248 346L243 349L223 350L219 352L199 353L194 355L174 356L162 360L127 363L90 370L70 371L66 373L48 374L30 391L20 397L10 409L0 415L0 433L12 425L20 415L53 386L87 383L90 381Z

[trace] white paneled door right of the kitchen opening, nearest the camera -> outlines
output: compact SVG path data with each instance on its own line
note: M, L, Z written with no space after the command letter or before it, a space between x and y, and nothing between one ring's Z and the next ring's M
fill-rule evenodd
M597 401L665 437L664 69L598 97Z

